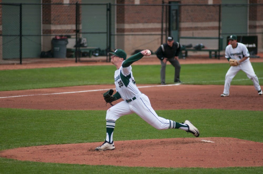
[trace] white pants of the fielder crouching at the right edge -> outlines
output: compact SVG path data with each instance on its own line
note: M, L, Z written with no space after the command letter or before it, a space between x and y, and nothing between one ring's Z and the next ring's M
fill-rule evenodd
M232 79L235 77L237 72L240 70L244 71L249 79L253 81L254 87L257 91L259 91L260 85L259 85L259 79L257 78L257 75L254 72L254 69L251 65L250 61L246 61L244 63L241 63L238 66L231 66L229 70L226 73L225 77L225 86L224 86L224 94L229 94L229 89L230 89L230 83Z

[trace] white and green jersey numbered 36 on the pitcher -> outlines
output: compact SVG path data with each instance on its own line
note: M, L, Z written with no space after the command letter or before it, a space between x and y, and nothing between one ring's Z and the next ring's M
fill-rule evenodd
M140 93L135 84L131 72L131 66L123 68L122 66L114 73L114 83L116 91L119 92L123 100L128 100Z

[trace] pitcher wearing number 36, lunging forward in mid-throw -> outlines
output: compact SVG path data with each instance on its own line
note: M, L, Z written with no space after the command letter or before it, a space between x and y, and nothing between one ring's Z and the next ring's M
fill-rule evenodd
M150 56L148 50L141 51L126 60L127 54L121 49L117 49L112 54L111 63L117 68L114 74L116 93L112 96L116 100L122 98L123 101L110 107L106 113L106 139L105 142L95 148L95 150L113 150L113 131L115 121L123 115L136 113L144 121L149 123L156 129L182 129L192 133L195 137L199 136L198 129L189 121L178 123L169 119L159 117L153 110L149 98L141 93L135 84L133 74L131 72L131 64L143 56Z

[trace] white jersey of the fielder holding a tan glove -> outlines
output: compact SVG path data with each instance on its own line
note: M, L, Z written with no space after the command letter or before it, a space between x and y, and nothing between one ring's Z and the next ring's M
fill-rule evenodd
M231 58L231 59L236 59L240 60L243 57L248 57L244 62L249 61L249 51L247 50L247 47L243 43L237 42L236 48L232 48L232 45L227 45L226 46L226 51L225 51L225 58ZM241 62L244 63L244 62Z

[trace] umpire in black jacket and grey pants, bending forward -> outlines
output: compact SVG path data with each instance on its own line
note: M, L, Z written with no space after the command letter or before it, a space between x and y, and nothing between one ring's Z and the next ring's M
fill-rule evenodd
M156 56L161 60L161 84L165 85L165 68L166 62L169 61L175 68L174 82L181 83L180 81L180 63L178 55L181 51L181 44L174 42L172 36L167 37L167 43L162 44L155 52Z

